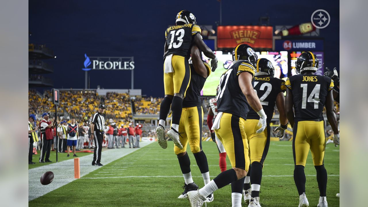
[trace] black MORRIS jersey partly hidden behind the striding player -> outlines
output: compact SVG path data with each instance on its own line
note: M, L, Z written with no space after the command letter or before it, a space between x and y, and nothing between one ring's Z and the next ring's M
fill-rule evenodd
M254 77L253 88L257 92L259 101L261 101L263 110L267 116L267 123L271 122L273 110L275 109L276 97L280 92L285 92L285 81L279 78ZM259 119L255 110L250 109L248 119Z

